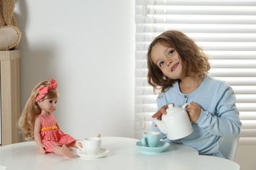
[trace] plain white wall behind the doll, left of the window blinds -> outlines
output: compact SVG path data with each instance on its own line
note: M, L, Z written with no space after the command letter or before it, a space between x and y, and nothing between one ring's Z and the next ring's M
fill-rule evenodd
M134 8L126 0L16 0L22 109L32 88L53 77L64 132L133 137Z

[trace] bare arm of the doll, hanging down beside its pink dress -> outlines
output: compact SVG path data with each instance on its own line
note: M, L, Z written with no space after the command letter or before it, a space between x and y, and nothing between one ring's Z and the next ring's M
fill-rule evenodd
M35 127L34 127L33 134L34 134L34 137L35 137L35 143L37 144L37 146L39 148L39 152L41 154L45 154L45 145L42 144L41 135L40 135L41 123L42 123L41 118L37 117L35 119Z

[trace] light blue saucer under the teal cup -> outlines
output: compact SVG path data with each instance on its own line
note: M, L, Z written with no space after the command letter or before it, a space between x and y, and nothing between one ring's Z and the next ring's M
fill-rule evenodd
M139 148L139 150L143 151L143 152L151 152L151 153L159 153L159 152L163 152L163 150L167 149L170 144L164 141L160 141L158 147L148 147L148 146L144 146L141 141L138 141L137 143L135 143L135 145L137 146L137 148Z

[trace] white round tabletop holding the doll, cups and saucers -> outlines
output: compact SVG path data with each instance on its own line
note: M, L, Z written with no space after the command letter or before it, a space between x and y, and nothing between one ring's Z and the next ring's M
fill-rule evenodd
M107 156L85 160L79 156L69 159L56 154L39 154L35 142L9 144L0 147L0 165L16 169L240 169L234 161L213 156L199 156L197 150L171 143L161 153L141 152L135 146L137 139L102 137L102 148L110 150Z

